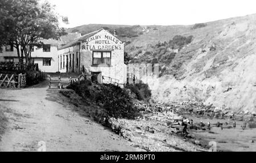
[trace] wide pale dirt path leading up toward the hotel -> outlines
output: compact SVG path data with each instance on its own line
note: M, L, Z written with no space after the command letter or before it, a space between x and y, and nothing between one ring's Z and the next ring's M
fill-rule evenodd
M9 122L0 151L139 151L100 124L81 116L57 89L46 85L0 89L0 109Z

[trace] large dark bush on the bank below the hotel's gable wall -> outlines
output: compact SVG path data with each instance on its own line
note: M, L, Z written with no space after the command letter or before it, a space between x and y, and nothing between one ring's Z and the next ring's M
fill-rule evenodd
M119 86L85 80L80 84L71 85L69 88L75 90L84 101L96 102L98 106L104 108L110 117L134 119L139 115L128 91ZM106 118L105 115L104 118Z

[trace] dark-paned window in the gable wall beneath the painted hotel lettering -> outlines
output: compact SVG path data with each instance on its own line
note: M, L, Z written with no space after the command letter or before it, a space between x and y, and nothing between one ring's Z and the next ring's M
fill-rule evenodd
M111 64L111 52L93 52L93 65L100 64Z

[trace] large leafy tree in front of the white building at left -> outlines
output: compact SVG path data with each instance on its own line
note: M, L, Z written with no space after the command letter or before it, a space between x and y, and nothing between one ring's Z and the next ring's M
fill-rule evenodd
M0 45L13 44L20 62L31 61L31 46L41 48L42 39L59 39L66 34L59 27L59 15L49 2L39 0L0 1ZM65 22L68 19L63 19Z

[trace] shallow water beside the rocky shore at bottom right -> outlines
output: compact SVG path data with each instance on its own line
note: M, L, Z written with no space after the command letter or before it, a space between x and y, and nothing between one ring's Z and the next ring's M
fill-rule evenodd
M256 151L256 128L249 128L246 126L245 130L242 129L242 121L237 120L225 120L225 119L209 119L209 118L199 118L193 115L185 115L189 119L193 119L194 123L199 123L203 121L207 125L216 124L217 122L225 123L228 122L228 126L233 126L233 122L236 122L236 128L223 128L214 127L209 130L195 130L189 129L188 132L192 133L200 140L204 145L208 145L210 141L216 141L217 151ZM251 141L254 141L252 143Z

